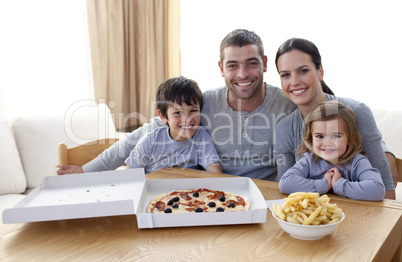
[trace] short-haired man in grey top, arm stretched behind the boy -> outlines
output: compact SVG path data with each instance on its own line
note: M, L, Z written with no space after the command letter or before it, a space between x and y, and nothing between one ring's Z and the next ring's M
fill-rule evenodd
M221 42L218 65L226 86L204 92L201 125L211 134L223 173L275 180L275 126L296 106L281 89L264 83L267 57L254 32L239 29L229 33ZM82 168L60 165L57 173L115 169L143 134L161 125L160 119L154 118Z

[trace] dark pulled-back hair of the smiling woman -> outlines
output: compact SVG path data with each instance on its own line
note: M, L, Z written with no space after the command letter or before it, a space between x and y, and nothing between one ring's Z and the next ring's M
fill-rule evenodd
M275 58L276 70L278 70L279 57L284 53L290 52L295 49L310 55L311 60L315 65L315 68L317 70L320 69L322 64L321 64L321 55L320 52L318 51L318 48L309 40L303 38L291 38L286 40L278 48L278 51L276 52L276 58ZM321 86L324 93L335 95L334 92L332 92L332 90L327 86L327 84L324 81L321 81Z

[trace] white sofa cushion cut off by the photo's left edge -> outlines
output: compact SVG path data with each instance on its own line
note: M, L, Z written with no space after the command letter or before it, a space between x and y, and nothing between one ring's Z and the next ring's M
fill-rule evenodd
M0 119L0 195L22 193L26 179L10 123Z

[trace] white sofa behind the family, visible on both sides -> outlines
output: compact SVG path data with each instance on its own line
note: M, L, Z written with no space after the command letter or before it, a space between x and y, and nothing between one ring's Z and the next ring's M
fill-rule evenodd
M373 113L387 146L402 158L399 137L402 111L373 110ZM0 119L0 214L40 185L45 176L56 175L60 142L71 147L98 138L121 136L104 104L78 104L60 115ZM397 198L402 200L402 185L397 187Z

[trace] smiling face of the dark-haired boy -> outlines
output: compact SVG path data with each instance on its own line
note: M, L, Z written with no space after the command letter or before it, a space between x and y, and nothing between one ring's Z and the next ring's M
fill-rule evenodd
M184 141L191 138L200 125L199 104L187 105L186 103L172 104L166 112L167 118L158 114L163 123L169 125L170 137L176 141Z

